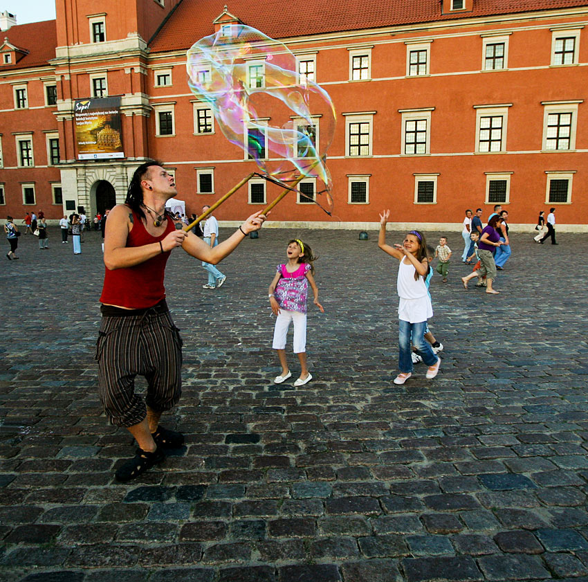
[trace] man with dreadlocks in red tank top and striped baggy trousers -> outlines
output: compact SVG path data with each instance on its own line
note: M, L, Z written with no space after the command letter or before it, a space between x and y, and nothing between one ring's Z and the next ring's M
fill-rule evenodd
M165 210L176 194L174 178L161 163L140 165L125 203L109 213L104 237L102 323L95 354L100 399L109 421L127 428L139 445L135 457L116 471L119 481L141 475L165 459L164 448L184 442L181 433L159 424L162 412L172 409L181 394L182 340L163 287L169 254L181 246L192 257L217 264L265 220L256 212L211 247L192 232L176 230ZM134 392L137 374L147 379L146 403Z

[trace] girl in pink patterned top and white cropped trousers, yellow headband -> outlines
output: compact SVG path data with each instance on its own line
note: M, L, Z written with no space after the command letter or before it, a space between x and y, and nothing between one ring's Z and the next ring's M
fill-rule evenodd
M270 284L268 295L276 316L272 347L277 352L279 363L282 364L282 373L275 377L274 383L281 384L292 376L286 359L286 334L290 322L293 321L294 353L298 354L301 368L300 378L294 385L304 386L313 379L306 367L306 292L309 283L314 293L314 304L321 313L324 313L324 309L318 302L318 287L313 277L313 262L316 257L310 246L300 239L293 239L288 242L286 255L288 262L277 266L277 273Z

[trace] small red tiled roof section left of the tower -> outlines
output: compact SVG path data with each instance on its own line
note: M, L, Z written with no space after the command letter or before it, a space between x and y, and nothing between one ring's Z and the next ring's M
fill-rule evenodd
M24 69L28 66L44 66L50 59L55 59L55 47L57 46L57 27L55 20L43 22L31 22L11 26L8 30L0 31L0 44L8 38L8 42L18 48L24 48L28 55L19 62L1 65L0 71L10 69Z

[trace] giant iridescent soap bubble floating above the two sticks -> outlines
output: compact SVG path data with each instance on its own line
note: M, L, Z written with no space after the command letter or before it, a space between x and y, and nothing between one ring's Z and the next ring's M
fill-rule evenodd
M226 138L264 174L285 183L317 177L332 206L325 158L335 134L333 102L298 73L282 42L250 26L224 26L187 51L187 73L192 93L210 104Z

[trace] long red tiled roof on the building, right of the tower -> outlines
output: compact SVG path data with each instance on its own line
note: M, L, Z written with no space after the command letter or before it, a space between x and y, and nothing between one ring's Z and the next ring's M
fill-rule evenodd
M441 14L440 0L183 0L151 41L151 52L187 49L214 33L228 11L273 38L361 30L439 20L588 6L587 0L474 0L473 12Z

